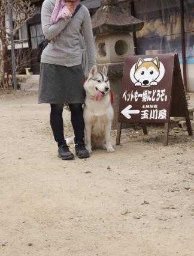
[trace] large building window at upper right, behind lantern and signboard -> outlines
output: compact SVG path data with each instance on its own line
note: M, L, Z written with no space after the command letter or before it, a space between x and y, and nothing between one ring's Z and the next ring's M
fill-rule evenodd
M194 0L184 0L186 58L194 58ZM137 32L138 54L178 53L182 58L180 0L135 1L135 16L144 20Z

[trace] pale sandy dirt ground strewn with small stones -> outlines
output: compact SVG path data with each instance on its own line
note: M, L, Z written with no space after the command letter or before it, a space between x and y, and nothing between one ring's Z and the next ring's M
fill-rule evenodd
M194 255L194 138L122 132L115 153L61 160L37 93L0 96L0 255ZM65 134L72 135L65 112ZM74 148L72 151L74 151Z

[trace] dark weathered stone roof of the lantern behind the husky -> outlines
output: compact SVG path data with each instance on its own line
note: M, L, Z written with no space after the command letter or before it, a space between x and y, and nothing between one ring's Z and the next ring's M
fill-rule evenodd
M101 0L99 8L92 18L94 35L135 32L144 26L142 20L129 15L119 6L119 0Z

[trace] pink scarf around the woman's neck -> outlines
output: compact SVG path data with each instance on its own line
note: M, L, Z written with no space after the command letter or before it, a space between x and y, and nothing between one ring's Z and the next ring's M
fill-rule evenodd
M77 5L80 4L80 0L77 0L76 2L72 2L72 4L74 4L75 7L77 7ZM72 14L69 11L68 7L66 6L65 0L56 0L53 13L51 14L51 17L50 17L50 24L53 25L59 19L66 19L67 17L72 17Z

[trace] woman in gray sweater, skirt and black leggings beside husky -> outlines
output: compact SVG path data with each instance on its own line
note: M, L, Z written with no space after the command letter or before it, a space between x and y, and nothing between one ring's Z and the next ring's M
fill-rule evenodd
M66 145L63 134L64 103L68 103L71 111L75 154L79 158L89 157L83 141L82 103L85 92L84 73L81 66L83 50L80 47L80 31L83 32L89 70L96 64L96 59L89 10L81 5L73 16L78 2L78 0L45 0L41 11L43 33L50 42L41 56L38 103L50 103L50 125L54 140L59 147L58 157L65 160L74 158L74 154ZM65 5L65 14L68 11L69 16L58 15L54 23L54 11L56 12L57 8L62 5L63 7ZM58 13L61 14L62 10Z

